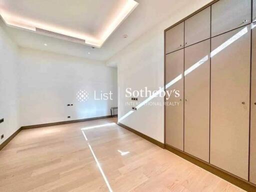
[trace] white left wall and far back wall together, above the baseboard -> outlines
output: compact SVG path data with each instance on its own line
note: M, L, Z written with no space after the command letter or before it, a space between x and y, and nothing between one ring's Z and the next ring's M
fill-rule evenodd
M21 48L0 21L0 135L2 143L20 126L105 116L117 106L117 69L80 57ZM78 102L83 89L89 98ZM113 100L94 100L102 92ZM72 103L73 106L66 106ZM67 118L71 116L71 118Z

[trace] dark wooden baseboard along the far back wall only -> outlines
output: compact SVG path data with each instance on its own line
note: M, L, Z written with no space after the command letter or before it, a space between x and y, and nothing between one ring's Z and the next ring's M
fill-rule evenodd
M88 120L97 120L102 118L110 118L111 115L107 116L98 116L98 117L91 117L91 118L82 118L77 120L66 120L66 121L60 121L60 122L50 122L50 123L44 123L44 124L35 124L35 125L27 125L27 126L21 126L21 129L29 129L29 128L38 128L38 127L44 127L44 126L54 126L59 124L67 124L67 123L74 123L74 122L82 122L82 121L88 121Z

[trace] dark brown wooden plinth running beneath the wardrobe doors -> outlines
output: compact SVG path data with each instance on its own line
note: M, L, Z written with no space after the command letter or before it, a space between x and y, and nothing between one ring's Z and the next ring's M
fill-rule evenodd
M230 182L230 183L232 183L232 184L234 184L234 185L236 185L236 186L238 186L238 187L240 187L240 188L242 188L246 191L249 191L249 192L250 191L251 192L256 191L256 185L254 185L253 183L251 183L247 180L244 180L240 177L237 177L237 176L235 176L235 175L233 175L233 174L231 174L231 173L229 173L225 170L222 170L222 169L220 169L220 168L218 168L218 167L216 167L216 166L214 166L214 165L212 165L208 162L200 160L200 159L198 159L198 158L196 158L196 157L194 157L194 156L192 156L192 155L190 155L186 152L183 152L183 151L181 151L177 148L174 148L174 147L172 147L168 144L165 144L165 148L167 150L169 150L170 152L188 160L189 162L192 162L193 164L195 164L195 165L197 165L197 166L199 166L199 167L201 167L201 168L219 176L220 178L223 178L224 180L226 180L226 181L228 181L228 182ZM237 166L239 166L239 165L237 165Z

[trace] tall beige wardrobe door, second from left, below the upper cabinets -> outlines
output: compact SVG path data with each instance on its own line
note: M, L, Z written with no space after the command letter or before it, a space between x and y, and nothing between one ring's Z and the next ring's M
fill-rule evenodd
M210 39L185 48L184 151L209 162Z

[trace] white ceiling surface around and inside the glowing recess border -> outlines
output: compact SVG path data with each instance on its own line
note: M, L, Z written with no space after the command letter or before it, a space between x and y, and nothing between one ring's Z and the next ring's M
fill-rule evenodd
M11 3L8 1L11 1ZM22 15L27 18L30 18L31 15L40 10L38 18L42 19L45 17L45 22L57 23L58 27L74 27L77 31L91 33L97 36L100 35L101 30L104 30L105 26L107 26L106 20L109 20L111 17L109 12L118 10L118 7L125 1L126 0L48 0L48 2L45 3L46 0L0 0L0 6L7 3L11 6L11 8L9 7L10 10L20 14L22 13ZM134 10L132 10L125 20L109 35L100 48L92 48L85 44L75 43L20 28L5 26L5 30L21 47L105 61L148 29L152 28L155 24L171 16L176 10L182 9L183 6L188 5L191 1L136 0L136 2L138 2L138 4L133 8ZM52 3L55 5L51 6ZM5 9L8 10L8 6L5 6ZM68 12L66 9L69 10L69 13L66 13ZM26 12L24 12L24 10L26 10ZM31 13L29 11L31 11ZM54 12L58 16L53 18ZM69 16L67 17L65 14ZM102 15L109 15L109 18L105 18ZM86 19L80 19L80 17L86 17ZM32 18L35 19L37 17ZM79 27L75 27L76 24L79 25ZM124 34L127 34L128 37L124 38Z

